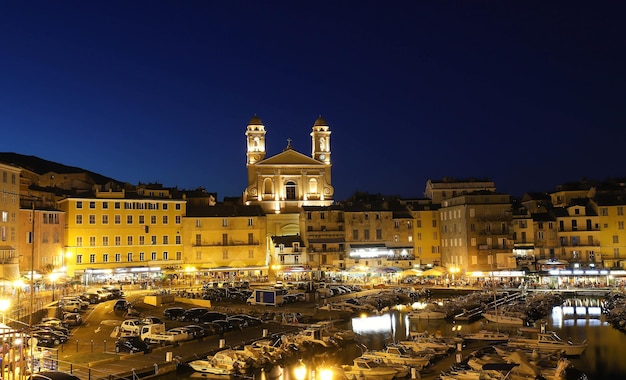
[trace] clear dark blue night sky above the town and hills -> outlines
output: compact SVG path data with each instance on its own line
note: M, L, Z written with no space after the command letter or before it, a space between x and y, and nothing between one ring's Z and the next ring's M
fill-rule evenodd
M626 176L619 1L14 1L0 12L0 151L121 181L246 187L329 123L335 199L429 178L549 191Z

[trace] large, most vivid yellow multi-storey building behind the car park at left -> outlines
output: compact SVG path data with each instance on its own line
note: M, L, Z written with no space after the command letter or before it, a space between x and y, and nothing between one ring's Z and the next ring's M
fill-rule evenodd
M184 199L156 186L96 191L59 202L65 267L85 285L151 281L183 262Z

